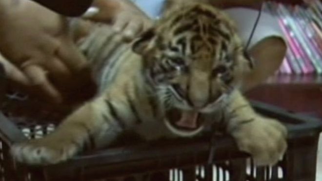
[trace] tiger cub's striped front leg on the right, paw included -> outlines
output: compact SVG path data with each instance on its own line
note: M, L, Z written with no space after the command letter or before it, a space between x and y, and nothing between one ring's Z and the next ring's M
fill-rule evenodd
M265 118L252 109L235 91L225 110L227 131L241 151L252 155L257 165L275 164L286 151L286 128L277 120Z

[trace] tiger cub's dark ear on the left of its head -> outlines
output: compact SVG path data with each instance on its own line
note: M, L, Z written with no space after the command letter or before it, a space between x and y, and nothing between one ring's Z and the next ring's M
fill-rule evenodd
M143 32L141 36L134 41L132 45L132 51L139 55L142 55L149 49L149 45L154 37L155 30L153 28L150 28L147 31Z

